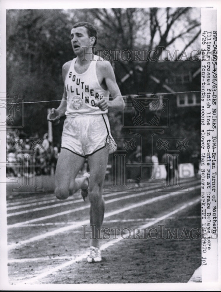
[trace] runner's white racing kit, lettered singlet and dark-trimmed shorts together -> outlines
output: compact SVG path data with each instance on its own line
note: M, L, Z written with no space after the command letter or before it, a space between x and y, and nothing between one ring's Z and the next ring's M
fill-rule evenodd
M88 69L78 74L73 59L65 79L67 92L67 109L64 121L61 148L87 157L102 148L109 153L116 149L116 143L110 133L110 124L106 111L95 107L96 101L109 97L109 91L99 84L96 74L96 62L103 62L102 58L94 55Z

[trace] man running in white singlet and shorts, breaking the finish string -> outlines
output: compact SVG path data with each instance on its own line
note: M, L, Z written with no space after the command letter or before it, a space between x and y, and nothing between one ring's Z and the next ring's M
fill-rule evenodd
M106 144L115 143L107 112L119 110L124 103L110 62L93 53L96 41L96 28L88 22L76 23L71 29L71 45L77 58L63 65L62 101L48 115L52 122L66 115L56 166L56 197L67 199L81 189L82 197L88 195L91 204L90 224L95 225L95 236L90 240L89 263L101 261L96 228L101 228L104 216L102 193L109 154ZM90 174L76 178L86 158Z

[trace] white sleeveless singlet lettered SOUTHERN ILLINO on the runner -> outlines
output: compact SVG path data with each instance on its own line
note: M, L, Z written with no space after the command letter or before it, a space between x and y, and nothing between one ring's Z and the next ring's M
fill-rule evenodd
M104 90L99 84L96 74L96 62L103 62L103 59L93 55L88 69L78 74L74 65L77 58L71 62L68 74L65 78L67 92L67 109L65 115L75 117L78 114L106 114L108 110L101 111L95 107L96 101L101 98L108 98L110 93Z

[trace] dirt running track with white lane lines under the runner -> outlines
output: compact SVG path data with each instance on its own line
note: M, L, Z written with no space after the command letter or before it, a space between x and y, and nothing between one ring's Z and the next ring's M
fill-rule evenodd
M52 193L11 197L9 284L187 283L201 265L201 188L195 179L181 185L189 191L150 184L105 192L103 260L94 264L86 261L89 202L80 193L65 201Z

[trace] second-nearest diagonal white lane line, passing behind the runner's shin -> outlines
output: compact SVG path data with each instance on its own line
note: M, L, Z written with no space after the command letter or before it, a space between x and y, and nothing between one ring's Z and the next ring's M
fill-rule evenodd
M189 190L191 191L191 190L195 190L195 189L198 189L198 188L201 188L201 185L196 186L196 187L191 187L191 188L189 188ZM141 201L139 203L132 204L132 205L129 205L127 207L124 207L124 208L121 208L121 209L118 209L118 210L115 210L115 211L108 212L108 213L104 214L104 218L108 218L110 216L125 212L125 211L133 209L133 208L144 206L146 204L151 204L153 202L156 202L156 201L159 201L159 200L163 200L163 199L166 199L168 197L175 196L177 194L181 194L181 192L171 192L171 193L164 194L164 195L161 195L161 196L158 196L158 197L154 197L152 199L147 199L145 201ZM112 200L109 200L107 202L110 202L110 201L112 201ZM84 220L84 221L77 222L77 223L74 223L74 224L69 225L69 226L61 227L61 228L58 228L56 230L46 232L44 234L40 234L40 235L34 236L34 237L30 238L30 239L26 239L26 240L20 241L18 243L10 244L10 245L8 245L8 250L10 250L12 248L17 248L18 246L21 246L23 244L29 244L30 242L33 242L33 241L36 241L36 240L41 240L41 239L49 237L49 236L54 236L55 234L66 232L66 231L69 231L69 230L72 230L72 229L75 229L75 228L81 227L82 225L87 225L87 224L90 224L89 220Z

